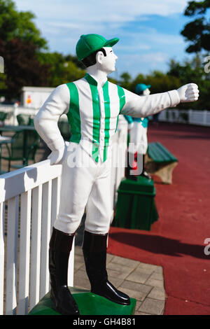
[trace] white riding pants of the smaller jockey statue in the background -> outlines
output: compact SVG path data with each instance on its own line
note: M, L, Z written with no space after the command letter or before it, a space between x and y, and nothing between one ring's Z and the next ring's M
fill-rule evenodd
M134 121L130 130L130 144L128 151L130 153L146 154L148 148L147 128L143 127L140 122Z

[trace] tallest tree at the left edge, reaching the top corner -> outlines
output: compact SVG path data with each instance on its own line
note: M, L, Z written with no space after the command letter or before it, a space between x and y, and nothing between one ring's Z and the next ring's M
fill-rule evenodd
M48 85L49 66L40 64L37 53L46 50L47 41L34 24L29 11L18 12L15 2L0 0L0 55L5 73L1 73L1 94L17 98L24 85Z

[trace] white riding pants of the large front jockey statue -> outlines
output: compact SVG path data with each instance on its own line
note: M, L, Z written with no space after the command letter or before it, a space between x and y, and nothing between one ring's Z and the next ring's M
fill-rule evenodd
M85 230L106 234L112 219L111 158L94 159L80 146L70 142L63 162L57 230L76 232L86 207Z

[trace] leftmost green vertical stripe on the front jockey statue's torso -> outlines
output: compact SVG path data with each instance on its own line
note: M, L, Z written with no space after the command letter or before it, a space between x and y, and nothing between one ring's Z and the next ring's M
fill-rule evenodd
M66 85L70 92L69 112L67 113L69 125L71 126L70 141L79 143L81 139L81 120L78 90L74 83L66 83Z

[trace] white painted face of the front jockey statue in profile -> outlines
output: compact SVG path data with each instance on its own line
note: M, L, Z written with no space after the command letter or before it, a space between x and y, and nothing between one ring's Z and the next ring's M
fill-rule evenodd
M111 47L103 47L106 51L106 56L104 56L103 52L99 52L98 57L98 64L99 68L106 72L107 74L114 72L116 70L116 60L118 59L118 56L116 56L113 52L113 49Z

